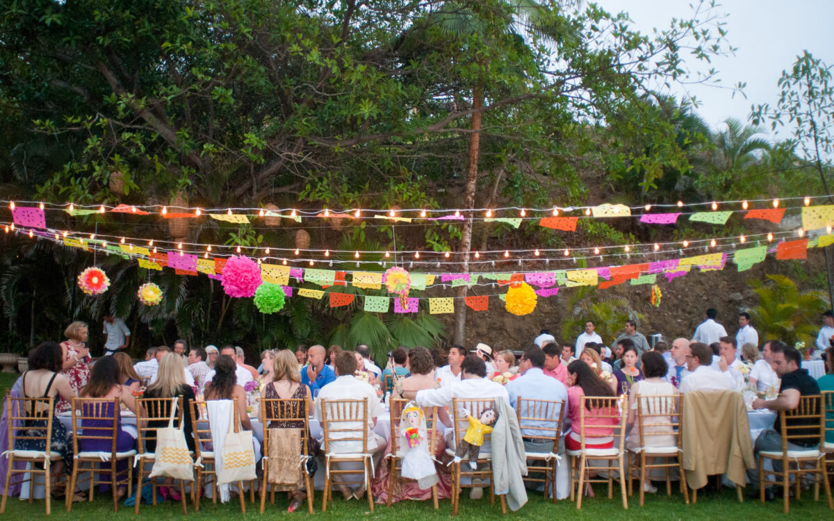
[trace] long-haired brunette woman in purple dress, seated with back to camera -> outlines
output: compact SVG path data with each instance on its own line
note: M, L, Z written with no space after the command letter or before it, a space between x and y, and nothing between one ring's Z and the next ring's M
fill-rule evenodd
M166 348L167 349L167 348ZM157 353L159 350L157 349ZM165 351L164 353L170 353ZM173 355L176 356L176 355ZM93 364L93 371L90 373L90 379L87 385L78 393L81 398L99 398L105 400L112 400L118 398L119 402L125 407L136 413L136 401L133 399L133 394L130 393L130 388L122 385L118 381L118 362L113 357L102 357L98 362ZM81 450L83 452L105 452L109 453L113 448L113 415L117 418L118 431L116 433L116 451L127 452L133 450L136 440L135 431L128 432L122 428L122 414L119 408L113 410L113 407L93 407L82 411L84 416L95 416L96 418L83 419L81 427L86 434L93 436L106 436L107 438L100 439L82 439ZM96 433L100 430L100 433ZM102 468L109 468L110 463L102 463ZM130 472L128 467L128 460L120 459L116 463L116 475L118 478L125 477L126 473ZM110 473L102 473L101 479L109 479ZM101 485L100 490L109 490L109 485ZM127 493L127 488L121 486L117 490L117 495L121 498Z

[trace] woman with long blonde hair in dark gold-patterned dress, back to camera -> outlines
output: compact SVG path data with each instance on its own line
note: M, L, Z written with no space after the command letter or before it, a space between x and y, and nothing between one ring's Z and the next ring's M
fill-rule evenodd
M282 400L304 398L307 402L308 414L311 413L313 411L312 394L310 393L309 387L301 383L301 375L299 373L298 363L295 360L294 353L289 349L284 349L279 351L274 358L264 358L264 363L267 363L267 360L271 362L272 367L269 368L268 374L271 375L272 378L269 379L269 382L264 383L264 398L280 398ZM289 403L285 405L283 403L269 403L269 407L273 408L273 410L269 412L269 418L281 418L282 414L284 415L284 418L287 416L300 416L299 410L297 410L295 406L289 407ZM259 409L258 415L260 422L264 423L265 418L261 415L262 412L263 411ZM304 422L300 420L274 419L271 420L269 425L266 427L303 428L303 426ZM264 436L266 436L266 434L264 434ZM307 453L310 458L307 460L306 465L307 472L310 474L310 478L312 478L318 468L318 463L316 463L315 457L319 455L319 440L310 436L309 432L302 433L302 436L307 438ZM264 456L266 455L267 454L264 454ZM307 498L307 493L302 489L297 489L289 491L289 494L292 497L292 501L289 503L287 512L292 513L301 506L301 503L303 503L304 499Z

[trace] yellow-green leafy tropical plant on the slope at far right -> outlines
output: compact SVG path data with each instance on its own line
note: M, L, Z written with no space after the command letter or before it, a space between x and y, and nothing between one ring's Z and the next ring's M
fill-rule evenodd
M747 281L759 296L759 304L750 309L750 315L761 338L787 345L813 345L818 329L816 319L828 308L825 294L816 290L800 292L796 283L784 275L766 277L769 282L757 278Z

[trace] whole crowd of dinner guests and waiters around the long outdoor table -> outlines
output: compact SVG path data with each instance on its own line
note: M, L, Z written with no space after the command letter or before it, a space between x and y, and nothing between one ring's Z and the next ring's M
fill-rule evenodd
M834 318L831 313L824 316L825 325L820 336L834 335ZM767 408L772 411L786 411L796 408L803 395L818 394L821 390L834 390L834 348L831 335L824 352L826 376L815 380L801 368L801 354L796 348L788 347L779 340L768 340L761 348L758 333L751 324L747 313L740 313L739 328L735 336L726 333L716 323L716 312L706 312L692 338L676 338L671 346L665 341L650 345L646 337L637 331L637 323L629 320L624 324L624 333L613 339L610 347L595 333L592 321L585 322L585 331L574 341L559 342L547 330L542 330L530 345L520 351L495 351L486 343L477 343L467 349L460 345L447 348L407 348L401 346L387 353L386 363L380 368L371 357L367 345L356 346L354 350L338 345L324 348L322 345L298 346L294 350L266 350L261 353L258 368L246 363L244 350L233 345L216 348L191 347L185 340L167 346L148 348L145 358L132 363L123 349L127 345L129 332L126 328L106 326L108 343L106 355L93 363L86 346L88 326L72 323L65 331L63 343L45 342L33 349L29 355L29 369L16 386L23 397L55 397L55 413L66 413L73 397L118 398L130 411L135 412L136 397L143 393L145 398L173 398L181 396L184 407L184 429L188 448L193 450L194 438L191 429L191 408L188 403L202 398L206 401L233 400L238 403L239 423L245 430L253 429L255 416L250 415L247 405L251 392L247 388L259 389L264 398L304 399L312 418L322 419L322 403L325 400L362 399L369 400L369 423L365 426L367 448L373 454L374 465L379 464L389 440L374 432L378 418L389 413L386 404L390 398L404 398L422 408L438 408L438 420L448 429L441 440L446 447L454 447L455 431L452 427L452 405L454 398L490 398L504 403L509 408L517 407L519 398L555 400L565 408L563 435L550 442L537 438L542 424L521 422L521 442L525 451L535 453L578 450L580 448L580 403L584 397L628 396L628 428L631 433L626 447L637 448L639 428L636 422L636 403L640 397L656 395L686 395L695 391L729 390L739 391L746 386L766 394L769 399L756 398L751 403L754 409ZM820 342L816 343L819 348ZM468 414L457 411L459 417ZM671 411L674 413L674 411ZM120 412L103 409L100 418L90 420L85 428L101 427L106 421L118 418L118 450L135 447L136 432L122 428ZM259 422L265 418L259 416ZM834 422L834 418L831 418ZM776 423L778 424L778 422ZM63 423L54 421L51 450L62 454L62 461L51 468L56 477L68 473L73 466L72 444L68 429ZM272 422L266 428L284 428L286 422ZM37 426L28 426L36 428ZM163 427L149 425L148 428ZM610 419L586 423L585 442L588 448L611 448ZM674 432L653 433L651 443L658 446L674 444ZM658 435L660 434L660 435ZM262 434L263 436L263 434ZM315 456L319 453L320 439L309 437L309 471L314 473L318 464ZM106 441L106 440L105 440ZM260 456L260 442L255 438L253 450ZM828 440L834 443L834 439ZM816 443L796 443L806 448ZM765 429L755 440L756 452L781 450L781 434L776 428ZM45 447L15 447L43 450ZM442 453L442 446L438 454ZM144 448L153 452L153 446ZM91 443L82 450L101 451L108 447ZM355 452L351 443L337 450ZM127 462L118 472L128 472ZM439 466L440 472L449 472ZM750 473L754 486L758 474ZM388 478L379 473L378 478ZM163 497L179 499L172 480L163 483ZM479 483L475 483L476 485ZM339 483L344 498L360 498L367 491L364 485L349 488ZM542 488L536 483L530 487ZM404 488L402 497L408 498L409 489ZM647 492L656 492L651 482L646 482ZM76 491L80 493L80 491ZM128 493L119 490L119 495ZM471 497L479 498L480 487L473 487ZM554 493L554 491L547 491ZM586 493L592 494L589 487ZM303 489L290 491L289 511L299 508L306 492Z

